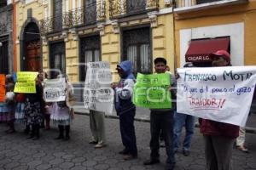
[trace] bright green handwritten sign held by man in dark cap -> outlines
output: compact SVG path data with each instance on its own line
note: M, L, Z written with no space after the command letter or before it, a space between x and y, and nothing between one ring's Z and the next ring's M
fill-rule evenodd
M133 90L133 103L149 109L172 108L170 84L171 75L169 73L152 75L138 73Z

